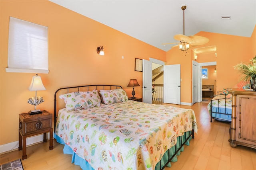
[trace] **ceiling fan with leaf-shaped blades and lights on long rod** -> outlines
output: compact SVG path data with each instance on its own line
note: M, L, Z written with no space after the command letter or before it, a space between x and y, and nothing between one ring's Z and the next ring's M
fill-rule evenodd
M197 35L191 35L191 36L186 36L185 35L185 22L184 22L184 11L187 6L182 6L181 9L183 10L183 35L182 34L177 34L174 35L174 39L180 41L179 43L162 43L163 45L166 44L178 44L180 47L181 51L186 51L190 47L194 47L196 45L203 45L205 43L209 42L209 39L206 37L201 37ZM176 47L178 45L174 45L173 47Z

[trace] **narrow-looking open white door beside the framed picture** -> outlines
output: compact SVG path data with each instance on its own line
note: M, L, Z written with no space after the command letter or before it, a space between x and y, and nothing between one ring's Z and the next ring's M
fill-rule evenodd
M143 102L152 104L152 61L143 59Z

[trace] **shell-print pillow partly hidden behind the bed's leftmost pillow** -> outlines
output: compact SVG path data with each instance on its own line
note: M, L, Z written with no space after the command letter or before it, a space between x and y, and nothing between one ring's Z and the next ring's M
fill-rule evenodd
M92 90L88 92L84 92L86 94L86 102L87 106L84 106L82 108L86 107L94 107L94 106L100 106L100 95L97 90Z

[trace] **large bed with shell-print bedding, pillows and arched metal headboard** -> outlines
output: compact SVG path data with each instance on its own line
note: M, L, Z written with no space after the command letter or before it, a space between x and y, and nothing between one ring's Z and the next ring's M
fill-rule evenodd
M162 170L198 131L192 109L128 100L112 85L56 90L54 125L54 138L84 170Z

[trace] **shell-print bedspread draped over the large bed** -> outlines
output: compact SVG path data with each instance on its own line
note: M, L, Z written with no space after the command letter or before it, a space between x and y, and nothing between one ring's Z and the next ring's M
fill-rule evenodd
M56 135L95 170L154 170L177 136L198 126L192 109L128 100L60 109Z

